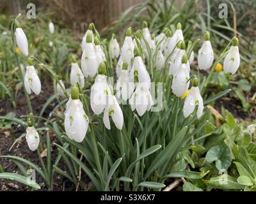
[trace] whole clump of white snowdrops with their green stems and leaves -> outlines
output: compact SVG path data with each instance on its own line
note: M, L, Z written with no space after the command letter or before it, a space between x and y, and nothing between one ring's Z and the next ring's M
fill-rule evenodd
M175 31L166 27L157 36L150 34L147 22L136 32L129 27L122 44L115 34L109 41L102 39L95 25L90 24L81 43L81 66L77 61L79 56L73 56L70 81L63 82L61 73L35 56L29 56L23 29L26 31L15 18L13 48L17 43L22 54L28 57L26 74L22 76L30 113L25 116L28 118L26 140L29 149L37 150L42 164L42 169L35 164L32 167L49 189L55 173L79 186L83 172L99 191L161 190L168 177L180 175L179 151L194 144L195 138L198 141L208 136L204 135L208 122L205 104L230 91L204 99L216 64L225 58L225 73L234 74L240 63L236 37L219 57L214 57L210 33L205 31L196 65L194 48L200 39L184 39L180 23ZM49 31L54 33L52 22ZM191 64L204 69L207 77L200 77L199 72L191 69ZM65 104L61 114L51 115L52 120L33 115L30 105L28 94L38 95L41 88L44 89L36 72L38 68L47 70L52 77L60 102L57 108ZM90 87L85 85L87 79L93 80ZM45 120L47 129L58 138L57 143L51 143L47 134L46 167L38 150L40 138L44 136L36 131L42 128L38 127L42 125L38 120ZM53 166L51 145L58 148ZM27 159L5 157L31 165ZM58 167L61 159L68 171ZM200 178L206 173L202 172ZM183 176L186 178L186 175Z

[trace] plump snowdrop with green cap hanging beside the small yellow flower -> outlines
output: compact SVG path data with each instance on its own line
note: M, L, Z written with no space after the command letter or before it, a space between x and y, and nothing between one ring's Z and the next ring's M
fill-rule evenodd
M182 57L182 63L180 64L177 74L172 80L172 91L177 96L183 96L189 87L189 71L188 71L188 56L185 54Z

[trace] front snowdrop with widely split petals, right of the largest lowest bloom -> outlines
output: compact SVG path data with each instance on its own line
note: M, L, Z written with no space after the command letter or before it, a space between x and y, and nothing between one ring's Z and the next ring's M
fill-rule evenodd
M115 96L111 92L109 94L108 105L104 110L103 122L107 129L111 129L109 122L109 116L111 116L116 128L121 130L124 124L124 115Z

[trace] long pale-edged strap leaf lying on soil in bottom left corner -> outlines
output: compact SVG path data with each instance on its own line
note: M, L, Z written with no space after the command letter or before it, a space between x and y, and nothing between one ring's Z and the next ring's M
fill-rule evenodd
M35 180L28 179L28 177L24 177L18 173L0 173L0 179L16 180L17 182L26 184L35 189L41 188L38 184L36 184Z

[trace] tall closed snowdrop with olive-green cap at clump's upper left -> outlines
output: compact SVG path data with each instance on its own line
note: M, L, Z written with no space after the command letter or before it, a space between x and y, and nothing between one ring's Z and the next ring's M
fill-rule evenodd
M92 43L92 34L90 33L86 36L86 44L81 58L81 66L86 78L88 76L94 77L98 71L99 64L97 61L97 53L95 51L95 46Z

